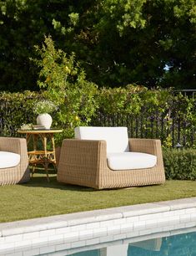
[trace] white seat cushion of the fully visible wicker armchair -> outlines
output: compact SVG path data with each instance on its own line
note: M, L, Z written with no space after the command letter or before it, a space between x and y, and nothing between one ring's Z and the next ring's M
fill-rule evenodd
M138 152L110 153L107 161L112 170L145 169L156 165L157 156Z

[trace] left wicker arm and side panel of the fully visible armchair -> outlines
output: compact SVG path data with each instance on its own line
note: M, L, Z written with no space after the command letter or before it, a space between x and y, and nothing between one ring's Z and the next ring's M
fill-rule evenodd
M98 184L100 173L107 167L106 141L63 140L58 163L58 181L64 170L78 184ZM84 183L85 182L85 183Z

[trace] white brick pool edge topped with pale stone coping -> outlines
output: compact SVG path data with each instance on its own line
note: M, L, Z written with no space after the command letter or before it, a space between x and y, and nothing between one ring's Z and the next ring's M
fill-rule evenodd
M73 245L100 243L101 238L105 241L112 236L123 238L124 233L136 237L152 233L152 228L158 233L194 226L196 197L33 218L0 223L0 254L13 253L29 245L36 248L40 244L58 241L58 244L65 245L64 248L72 248ZM118 230L121 235L118 235Z

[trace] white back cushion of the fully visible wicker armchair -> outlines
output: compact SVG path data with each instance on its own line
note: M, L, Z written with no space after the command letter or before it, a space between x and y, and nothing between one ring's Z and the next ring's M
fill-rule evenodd
M104 140L108 153L129 151L127 127L80 126L74 130L75 138L80 140Z

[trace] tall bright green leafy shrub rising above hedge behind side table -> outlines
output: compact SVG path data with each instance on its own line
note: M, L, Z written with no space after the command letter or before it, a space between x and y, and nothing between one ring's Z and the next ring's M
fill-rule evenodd
M58 105L56 124L64 128L59 136L73 136L73 127L87 125L98 108L97 86L86 79L86 74L75 60L56 49L51 37L45 38L42 47L36 47L38 59L33 59L40 68L38 86L45 97Z

